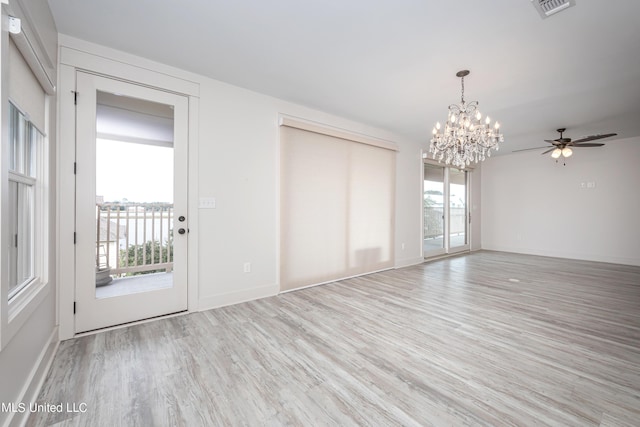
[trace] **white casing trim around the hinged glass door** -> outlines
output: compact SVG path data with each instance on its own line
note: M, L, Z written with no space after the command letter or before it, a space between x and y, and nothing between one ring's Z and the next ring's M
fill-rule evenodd
M189 219L190 235L188 239L189 277L187 288L187 312L198 309L198 117L200 85L187 78L176 76L177 71L162 64L134 58L111 49L89 46L88 53L76 48L60 47L59 91L58 91L58 127L57 127L57 194L56 194L56 230L57 254L57 317L59 338L73 338L75 334L75 144L76 111L75 88L76 72L87 71L107 78L123 80L129 83L173 92L188 97L188 202L191 212ZM135 62L135 64L134 64ZM157 70L157 71L152 71ZM81 95L78 95L81 96Z

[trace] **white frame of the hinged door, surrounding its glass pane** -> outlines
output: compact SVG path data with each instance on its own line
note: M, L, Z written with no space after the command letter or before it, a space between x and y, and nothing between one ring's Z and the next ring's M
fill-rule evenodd
M115 325L136 322L170 313L184 312L188 298L188 233L179 235L179 227L189 227L188 211L188 98L173 92L152 89L120 79L107 78L86 71L76 75L76 317L75 331L82 333ZM146 292L132 292L99 298L95 286L96 247L96 172L99 93L117 93L124 98L171 105L173 107L173 204L174 215L186 222L173 223L172 286ZM117 173L115 168L114 173ZM141 200L138 200L140 202ZM127 221L129 223L129 221ZM137 228L136 228L137 230ZM133 232L133 229L130 230ZM168 236L168 232L167 232ZM137 237L136 237L137 239ZM131 243L131 242L129 242ZM128 249L127 249L128 250ZM152 276L149 276L152 277Z

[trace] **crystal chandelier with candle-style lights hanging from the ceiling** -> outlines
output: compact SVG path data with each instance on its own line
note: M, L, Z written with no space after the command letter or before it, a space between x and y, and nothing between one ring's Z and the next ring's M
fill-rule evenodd
M429 152L433 158L459 169L468 166L472 161L484 160L491 156L491 150L499 149L498 143L504 142L504 135L500 133L500 124L496 121L491 125L491 118L484 121L478 110L478 101L466 103L464 100L464 78L469 70L456 73L462 82L462 97L460 104L449 105L449 116L444 125L436 123Z

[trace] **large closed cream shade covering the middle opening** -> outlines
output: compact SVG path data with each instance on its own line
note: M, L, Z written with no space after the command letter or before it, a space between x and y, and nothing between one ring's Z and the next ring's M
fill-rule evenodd
M393 266L396 154L381 145L281 127L282 291Z

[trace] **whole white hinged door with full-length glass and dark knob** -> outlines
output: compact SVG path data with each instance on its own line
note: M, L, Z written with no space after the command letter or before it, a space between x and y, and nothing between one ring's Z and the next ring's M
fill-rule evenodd
M187 309L185 96L77 73L75 332Z

